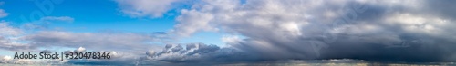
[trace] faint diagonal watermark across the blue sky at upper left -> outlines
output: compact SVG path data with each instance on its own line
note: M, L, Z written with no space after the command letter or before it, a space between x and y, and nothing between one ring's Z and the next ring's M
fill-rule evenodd
M22 22L32 22L40 20L46 15L52 14L56 5L62 4L64 0L31 0L37 6L38 10L32 11L28 16L21 14L19 16ZM43 22L34 22L34 24L44 24ZM22 27L21 27L22 28Z

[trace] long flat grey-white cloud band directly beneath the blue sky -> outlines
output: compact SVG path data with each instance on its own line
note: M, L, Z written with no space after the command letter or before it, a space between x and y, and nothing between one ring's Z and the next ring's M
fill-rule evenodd
M40 31L22 39L36 47L60 46L91 50L139 52L153 47L148 42L159 42L154 33L70 33L62 31ZM133 48L134 47L134 48ZM80 48L80 51L84 50ZM79 50L78 50L79 51Z

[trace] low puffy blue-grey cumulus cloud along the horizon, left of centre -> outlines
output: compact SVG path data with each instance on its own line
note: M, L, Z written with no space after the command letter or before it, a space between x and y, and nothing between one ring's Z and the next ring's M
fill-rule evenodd
M185 47L181 44L167 44L161 51L150 50L146 57L139 60L139 64L152 65L179 65L173 62L194 64L213 64L214 62L255 61L258 57L247 52L233 48L221 48L212 44L188 43ZM171 63L167 63L171 62Z

